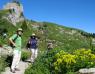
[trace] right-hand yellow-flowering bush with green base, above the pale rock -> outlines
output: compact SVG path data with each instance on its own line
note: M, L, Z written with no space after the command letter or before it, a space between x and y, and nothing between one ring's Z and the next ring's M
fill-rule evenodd
M80 68L90 68L95 65L95 54L92 53L90 49L80 49L74 52L76 55L76 65L74 66L75 70Z

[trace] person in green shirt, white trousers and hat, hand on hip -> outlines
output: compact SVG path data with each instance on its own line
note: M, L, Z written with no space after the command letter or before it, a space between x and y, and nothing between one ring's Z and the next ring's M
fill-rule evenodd
M12 37L9 38L9 41L12 45L13 51L13 60L11 65L11 72L15 73L15 71L20 71L18 68L20 58L21 58L21 35L23 31L21 28L19 28Z

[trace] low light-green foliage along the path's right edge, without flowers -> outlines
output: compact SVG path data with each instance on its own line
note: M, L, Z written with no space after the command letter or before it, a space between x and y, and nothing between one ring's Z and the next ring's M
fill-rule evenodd
M38 56L34 64L26 69L25 74L50 74L46 66L47 64L45 64L46 59L44 58L44 56L45 54Z

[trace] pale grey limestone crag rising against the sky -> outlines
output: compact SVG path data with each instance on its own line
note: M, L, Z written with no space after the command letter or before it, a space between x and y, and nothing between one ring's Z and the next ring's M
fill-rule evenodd
M3 7L4 10L10 10L10 13L7 15L6 19L12 22L16 26L17 22L23 21L23 6L20 3L12 2L7 3Z

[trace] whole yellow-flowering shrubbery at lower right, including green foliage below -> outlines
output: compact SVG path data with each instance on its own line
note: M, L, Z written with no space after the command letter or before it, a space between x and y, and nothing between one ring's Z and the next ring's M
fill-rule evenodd
M78 49L72 54L61 50L55 55L54 72L76 72L80 68L95 67L95 54L90 49Z

